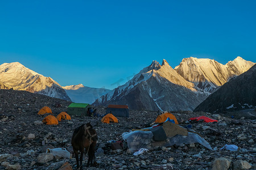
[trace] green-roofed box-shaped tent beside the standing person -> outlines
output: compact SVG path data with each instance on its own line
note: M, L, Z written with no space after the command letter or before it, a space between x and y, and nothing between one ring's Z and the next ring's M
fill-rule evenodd
M76 116L87 116L87 108L89 104L87 103L71 103L68 106L68 114Z

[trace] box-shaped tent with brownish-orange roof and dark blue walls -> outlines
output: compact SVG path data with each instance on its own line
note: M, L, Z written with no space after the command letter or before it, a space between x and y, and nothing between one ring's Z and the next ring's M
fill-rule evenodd
M106 114L112 113L116 117L129 117L129 109L127 105L108 105Z

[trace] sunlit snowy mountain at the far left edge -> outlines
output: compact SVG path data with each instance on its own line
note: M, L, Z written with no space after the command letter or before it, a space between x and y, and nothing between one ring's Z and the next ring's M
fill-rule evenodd
M59 83L24 67L19 62L0 65L0 88L24 90L71 101Z

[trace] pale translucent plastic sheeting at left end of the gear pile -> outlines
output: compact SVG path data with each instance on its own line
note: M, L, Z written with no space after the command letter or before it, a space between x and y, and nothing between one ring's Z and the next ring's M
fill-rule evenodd
M139 150L140 148L151 149L152 131L132 131L122 134L122 138L127 141L127 146L131 150Z

